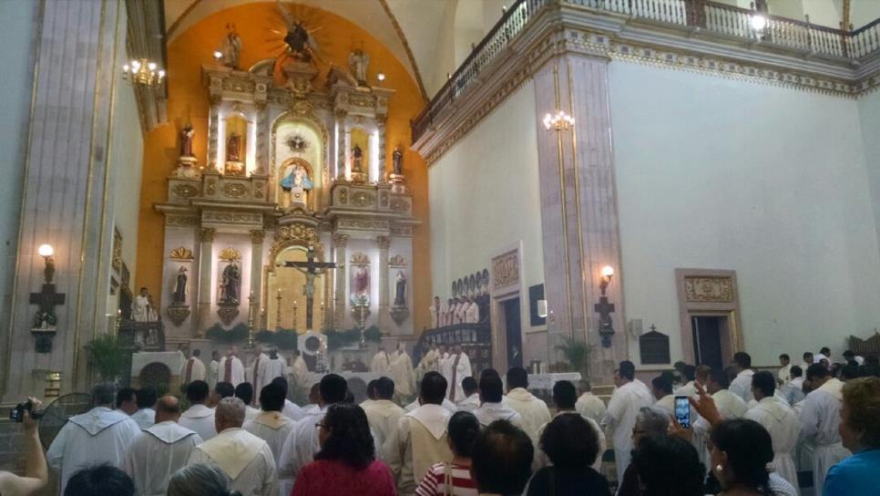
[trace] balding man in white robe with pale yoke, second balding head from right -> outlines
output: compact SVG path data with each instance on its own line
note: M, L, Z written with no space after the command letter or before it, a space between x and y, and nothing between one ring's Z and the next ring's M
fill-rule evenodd
M164 496L175 471L186 465L192 449L202 443L195 432L180 427L178 398L166 396L156 404L156 423L131 444L123 470L139 496Z

